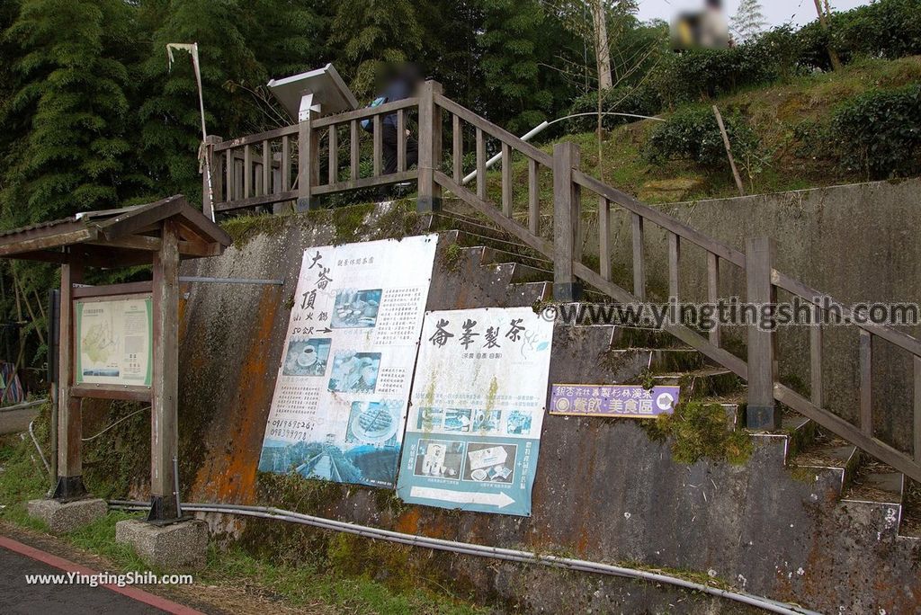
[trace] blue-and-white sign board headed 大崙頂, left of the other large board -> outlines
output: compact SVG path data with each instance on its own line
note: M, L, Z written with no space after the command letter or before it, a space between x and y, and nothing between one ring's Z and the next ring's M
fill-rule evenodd
M436 246L304 251L259 470L393 487Z

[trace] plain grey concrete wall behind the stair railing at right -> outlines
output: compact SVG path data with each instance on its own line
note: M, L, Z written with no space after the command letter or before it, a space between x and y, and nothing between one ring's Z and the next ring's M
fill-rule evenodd
M806 191L656 205L705 235L744 251L746 238L767 236L778 245L782 271L845 305L857 302L921 302L921 180L880 181ZM633 288L630 218L612 215L612 271ZM587 253L598 253L597 225L589 219ZM647 276L653 296L668 288L668 239L647 225ZM720 296L745 296L745 280L734 266L721 270ZM682 300L706 297L702 249L682 244ZM788 299L784 293L780 300ZM905 328L921 336L921 327ZM743 335L737 332L740 341ZM809 333L792 327L780 335L780 373L795 389L808 389ZM826 328L823 386L834 412L856 421L857 331ZM888 342L874 346L876 429L905 450L911 446L911 361Z

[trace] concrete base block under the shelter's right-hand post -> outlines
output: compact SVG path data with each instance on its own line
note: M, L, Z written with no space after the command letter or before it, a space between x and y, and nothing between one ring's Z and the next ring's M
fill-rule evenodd
M129 544L138 557L163 570L204 568L208 548L208 524L189 519L156 526L138 519L115 524L115 541Z

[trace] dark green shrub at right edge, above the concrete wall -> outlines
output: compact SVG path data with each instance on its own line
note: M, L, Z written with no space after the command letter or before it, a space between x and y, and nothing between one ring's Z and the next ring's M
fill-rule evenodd
M845 171L874 180L921 174L921 84L847 100L834 110L828 134Z

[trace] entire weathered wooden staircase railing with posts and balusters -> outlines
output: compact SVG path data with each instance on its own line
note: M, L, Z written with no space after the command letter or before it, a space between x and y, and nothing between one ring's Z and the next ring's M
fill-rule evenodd
M397 114L399 135L398 168L382 174L380 126L386 115ZM417 170L406 168L404 131L415 115L419 134ZM448 122L450 116L450 122ZM370 136L369 157L363 164L362 130L358 124L370 119L376 130ZM442 135L451 129L450 148L443 147ZM464 134L472 133L476 185L464 185ZM321 174L321 140L325 140L325 174ZM348 166L342 168L339 144L349 143ZM489 193L486 177L487 141L501 152L501 181L497 203ZM367 138L365 139L367 141ZM720 279L733 268L744 275L746 299L758 305L773 304L777 290L821 308L827 296L793 280L775 269L775 244L769 238L750 238L745 252L733 249L676 218L640 203L632 196L589 177L579 170L579 149L573 143L554 146L553 155L530 145L471 110L446 98L436 82L426 82L419 96L386 103L376 108L350 111L267 133L221 141L212 137L205 144L212 157L214 211L227 212L253 206L293 203L298 211L314 205L314 197L333 192L354 191L402 181L417 181L420 212L436 211L442 193L449 191L502 228L522 244L554 261L554 299L577 300L580 285L588 284L622 303L647 301L647 268L644 236L651 226L660 227L668 238L669 296L679 296L682 251L703 249L706 257L707 301L716 303ZM365 144L367 145L367 143ZM495 149L493 150L495 151ZM448 154L448 156L446 156ZM524 159L528 171L527 211L523 223L513 211L513 157ZM541 177L553 178L553 216L542 220ZM205 183L206 183L205 179ZM523 183L523 182L522 182ZM581 206L586 193L599 203L598 271L583 263ZM205 198L206 214L209 203ZM631 219L633 284L630 290L612 281L612 209L622 208ZM549 222L549 226L546 224ZM551 239L552 238L552 239ZM831 298L831 297L827 297ZM844 317L850 314L844 313ZM747 328L747 361L723 347L716 328L706 336L694 329L670 324L666 330L721 366L748 382L747 423L752 429L780 426L776 402L815 421L854 446L921 481L921 341L888 326L859 324L860 410L859 424L852 424L825 407L822 392L822 327L810 327L810 398L780 382L777 374L775 331ZM906 453L874 435L872 412L872 358L875 343L886 342L910 354L913 371L912 453Z

